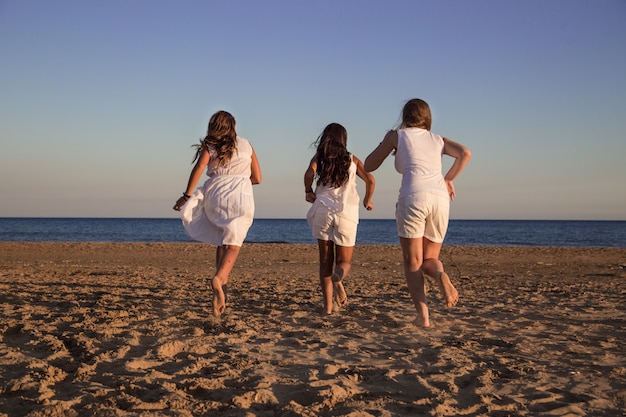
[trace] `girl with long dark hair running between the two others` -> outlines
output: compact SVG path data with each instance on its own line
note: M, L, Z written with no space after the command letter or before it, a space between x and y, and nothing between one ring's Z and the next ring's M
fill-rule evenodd
M367 210L374 208L374 176L365 172L363 163L348 152L347 142L348 132L342 125L326 126L314 143L317 151L304 174L305 198L313 204L307 221L319 247L324 314L332 314L333 299L338 306L347 302L342 280L350 271L359 222L356 176L365 181L363 206Z

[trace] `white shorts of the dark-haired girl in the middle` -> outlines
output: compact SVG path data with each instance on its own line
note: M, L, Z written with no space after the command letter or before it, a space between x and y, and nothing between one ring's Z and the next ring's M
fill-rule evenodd
M339 246L354 246L356 244L356 230L358 223L331 213L322 204L316 204L309 212L307 221L313 232L313 237L319 240L330 240Z

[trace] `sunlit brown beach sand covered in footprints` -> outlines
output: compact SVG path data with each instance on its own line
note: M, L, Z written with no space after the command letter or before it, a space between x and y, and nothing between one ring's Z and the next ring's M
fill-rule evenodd
M446 247L413 325L397 246L357 246L319 314L317 249L0 243L0 416L626 415L626 249Z

